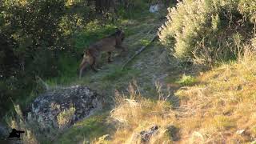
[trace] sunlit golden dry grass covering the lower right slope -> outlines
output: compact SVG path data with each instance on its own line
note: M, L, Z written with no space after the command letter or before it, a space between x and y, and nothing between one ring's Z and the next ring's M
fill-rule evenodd
M176 92L181 100L171 110L158 86L159 99L143 98L136 84L130 85L130 96L116 92L116 106L110 117L117 123L116 132L106 143L143 143L136 136L150 126L158 125L158 134L150 143L173 143L166 126L177 126L178 143L246 143L256 137L256 57L250 52L231 64L201 73L194 86ZM167 96L166 96L167 95Z

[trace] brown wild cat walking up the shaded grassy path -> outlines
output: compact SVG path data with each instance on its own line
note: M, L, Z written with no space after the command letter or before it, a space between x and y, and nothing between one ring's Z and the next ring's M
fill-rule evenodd
M122 46L122 41L125 38L125 34L122 30L117 29L114 34L106 38L102 38L98 42L90 45L87 50L85 50L82 62L80 64L80 72L79 78L82 77L82 71L86 68L86 66L90 66L92 70L97 72L97 64L98 60L101 57L102 52L107 52L108 62L112 62L111 53L116 49L121 49L126 51L126 48Z

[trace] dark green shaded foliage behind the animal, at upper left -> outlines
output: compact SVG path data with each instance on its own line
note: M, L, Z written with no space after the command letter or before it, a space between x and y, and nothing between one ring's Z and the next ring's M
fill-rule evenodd
M76 75L78 59L84 46L110 32L105 31L90 38L90 22L98 21L94 25L98 26L98 31L101 25L109 22L108 19L104 20L105 17L98 18L94 5L94 2L78 0L2 2L0 98L6 99L6 102L0 102L1 111L10 109L10 98L14 101L23 99L36 89L35 76L46 79L64 74L72 77ZM107 11L102 13L106 14ZM86 43L78 44L80 41L77 35L80 34L86 34Z

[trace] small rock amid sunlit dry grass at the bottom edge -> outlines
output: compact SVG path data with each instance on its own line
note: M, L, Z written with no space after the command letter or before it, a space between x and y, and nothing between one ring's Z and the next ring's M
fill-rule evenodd
M157 125L154 125L152 127L150 127L150 130L143 130L141 131L138 135L137 135L137 139L140 141L140 142L149 142L150 141L150 138L155 135L155 134L158 134L158 129L159 129L159 126Z

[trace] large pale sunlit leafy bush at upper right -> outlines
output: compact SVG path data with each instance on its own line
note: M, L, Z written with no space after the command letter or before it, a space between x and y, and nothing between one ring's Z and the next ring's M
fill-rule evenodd
M254 2L246 0L184 0L169 9L160 41L182 60L212 63L238 58L242 42L251 37ZM250 6L250 7L248 7Z

